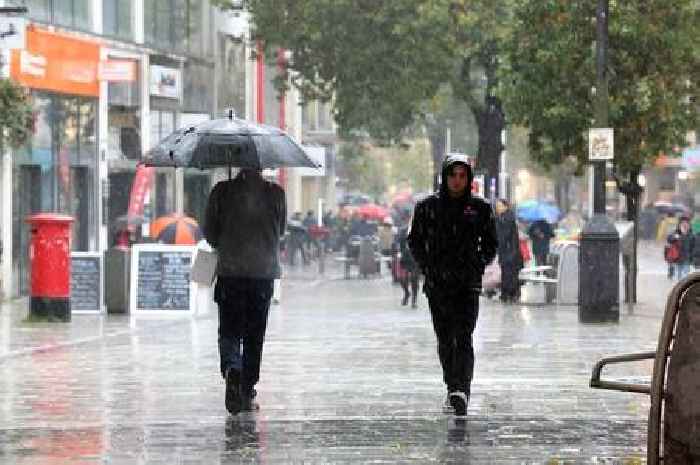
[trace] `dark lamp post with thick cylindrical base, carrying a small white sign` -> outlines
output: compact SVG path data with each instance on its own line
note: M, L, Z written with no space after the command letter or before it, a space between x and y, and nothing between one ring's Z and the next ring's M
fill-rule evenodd
M596 8L596 125L608 127L608 2ZM605 161L593 162L593 217L581 232L579 321L599 323L620 318L620 238L605 214Z

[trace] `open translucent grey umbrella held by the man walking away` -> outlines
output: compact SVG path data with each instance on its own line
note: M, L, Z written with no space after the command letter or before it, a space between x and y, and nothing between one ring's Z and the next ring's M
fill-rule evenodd
M199 169L318 167L284 131L233 114L178 129L147 152L144 163Z

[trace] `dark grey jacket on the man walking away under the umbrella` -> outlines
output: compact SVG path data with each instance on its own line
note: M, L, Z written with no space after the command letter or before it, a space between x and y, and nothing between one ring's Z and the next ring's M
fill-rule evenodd
M234 179L214 186L204 237L219 253L217 274L279 278L279 243L286 218L284 191L259 173L243 170Z

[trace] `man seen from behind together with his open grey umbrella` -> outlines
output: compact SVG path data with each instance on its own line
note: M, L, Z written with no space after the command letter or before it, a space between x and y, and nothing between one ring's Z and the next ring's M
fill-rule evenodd
M278 128L236 118L178 129L144 157L147 166L228 166L204 220L204 237L219 254L214 299L219 304L219 355L226 379L226 409L255 408L273 282L280 277L279 243L286 227L284 191L262 169L317 168L304 150ZM231 179L231 167L242 168Z

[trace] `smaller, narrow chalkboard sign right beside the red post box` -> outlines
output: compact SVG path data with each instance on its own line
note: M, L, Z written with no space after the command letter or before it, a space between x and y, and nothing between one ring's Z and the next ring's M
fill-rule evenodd
M71 312L102 311L102 256L93 252L71 253Z

